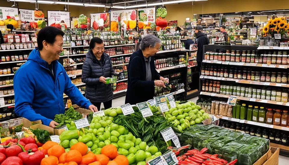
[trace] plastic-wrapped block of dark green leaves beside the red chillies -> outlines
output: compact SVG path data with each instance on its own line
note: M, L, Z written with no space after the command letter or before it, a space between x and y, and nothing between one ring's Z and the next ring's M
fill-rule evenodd
M269 140L224 129L214 124L194 125L179 136L180 143L194 148L208 148L209 154L222 154L228 162L252 165L269 150ZM236 164L237 165L237 164Z

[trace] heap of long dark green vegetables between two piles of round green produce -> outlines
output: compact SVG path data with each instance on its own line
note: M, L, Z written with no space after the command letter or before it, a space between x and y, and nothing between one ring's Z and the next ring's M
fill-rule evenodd
M153 112L154 115L143 118L137 107L133 107L135 113L124 116L117 115L114 117L114 123L127 127L136 138L148 142L148 146L156 146L159 151L164 152L171 145L171 141L165 142L160 131L171 127L161 112Z

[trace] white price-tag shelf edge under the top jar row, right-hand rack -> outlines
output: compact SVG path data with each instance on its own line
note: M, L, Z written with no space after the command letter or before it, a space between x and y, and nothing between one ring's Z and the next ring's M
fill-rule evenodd
M236 63L229 61L218 61L218 60L203 60L203 63L215 63L215 64L225 64L225 65L236 65L236 66L257 66L257 67L266 67L266 68L282 68L287 69L287 65L267 65L267 64L257 64L257 63Z

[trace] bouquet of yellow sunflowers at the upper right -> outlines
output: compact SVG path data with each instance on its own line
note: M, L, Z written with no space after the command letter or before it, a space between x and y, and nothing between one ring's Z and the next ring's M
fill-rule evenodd
M272 33L278 33L284 35L289 30L289 24L284 17L270 19L266 26L263 27L263 36L271 35Z

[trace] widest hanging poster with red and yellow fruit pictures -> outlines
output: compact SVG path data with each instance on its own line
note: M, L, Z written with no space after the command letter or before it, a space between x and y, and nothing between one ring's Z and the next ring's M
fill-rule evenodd
M114 10L110 11L110 30L119 31L121 29L136 28L136 10Z

